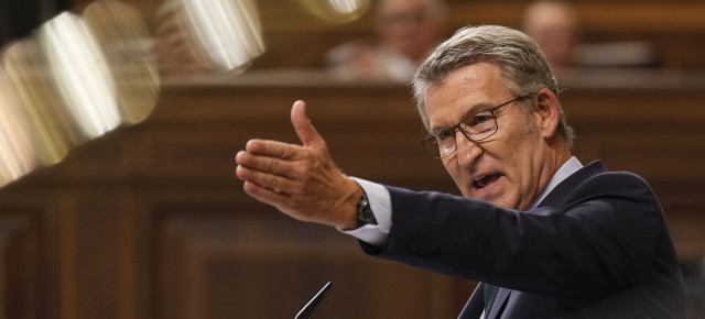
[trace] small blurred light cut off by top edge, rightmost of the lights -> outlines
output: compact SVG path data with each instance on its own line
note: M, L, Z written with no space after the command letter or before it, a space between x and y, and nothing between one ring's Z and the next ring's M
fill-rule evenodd
M370 0L299 0L308 12L333 23L346 23L360 18Z

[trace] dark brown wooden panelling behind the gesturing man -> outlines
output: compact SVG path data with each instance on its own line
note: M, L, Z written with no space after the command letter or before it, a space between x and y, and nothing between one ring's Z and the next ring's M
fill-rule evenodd
M702 81L585 79L562 98L578 157L641 174L682 257L704 254ZM453 318L474 283L369 258L242 193L232 157L251 138L296 142L295 99L346 173L456 191L417 144L406 87L254 73L166 82L144 123L0 189L0 318L291 318L327 280L316 318Z

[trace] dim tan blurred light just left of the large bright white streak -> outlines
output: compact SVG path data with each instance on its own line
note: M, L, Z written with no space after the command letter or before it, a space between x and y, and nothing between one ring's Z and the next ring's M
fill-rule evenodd
M47 62L34 38L14 43L2 54L2 63L34 152L41 164L54 164L73 146L66 106L47 70Z

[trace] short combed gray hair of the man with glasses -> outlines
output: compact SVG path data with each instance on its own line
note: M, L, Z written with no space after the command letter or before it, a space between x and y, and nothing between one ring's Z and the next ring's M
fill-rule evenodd
M557 81L539 45L528 35L499 25L466 26L438 45L421 65L413 80L413 94L421 120L430 129L424 95L441 86L447 76L467 65L486 62L500 67L507 89L518 96L528 96L547 88L558 95ZM522 103L530 112L531 103ZM575 132L566 122L563 108L558 133L568 147Z

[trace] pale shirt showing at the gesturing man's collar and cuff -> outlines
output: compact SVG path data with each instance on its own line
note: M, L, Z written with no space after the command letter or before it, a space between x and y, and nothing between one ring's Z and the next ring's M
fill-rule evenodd
M551 177L549 180L549 185L539 195L536 200L531 205L529 209L534 209L555 188L563 179L573 175L575 172L581 169L583 164L575 157L571 157ZM367 194L367 198L370 202L370 208L375 218L377 219L377 224L366 224L358 229L346 230L343 231L349 235L352 235L364 242L376 246L383 246L387 243L387 237L389 235L389 230L392 227L392 201L391 196L389 195L389 190L380 184L372 183L369 180L360 179L352 177L357 184L362 187L365 194Z

